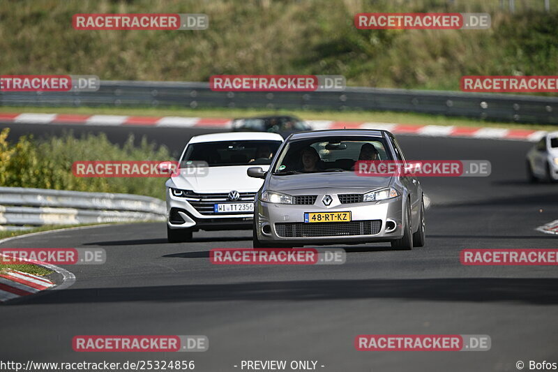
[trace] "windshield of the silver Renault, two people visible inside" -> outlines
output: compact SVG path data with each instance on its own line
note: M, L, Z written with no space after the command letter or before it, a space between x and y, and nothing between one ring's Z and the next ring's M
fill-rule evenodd
M356 161L392 160L382 137L320 137L289 142L273 174L354 170Z

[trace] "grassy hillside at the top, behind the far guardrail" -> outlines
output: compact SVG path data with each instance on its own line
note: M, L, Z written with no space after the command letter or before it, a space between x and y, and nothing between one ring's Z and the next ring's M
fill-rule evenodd
M507 1L505 1L507 3ZM6 0L3 74L208 81L344 75L349 86L458 90L462 75L556 75L558 0ZM361 12L488 12L486 30L359 30ZM77 31L75 13L205 13L204 31Z

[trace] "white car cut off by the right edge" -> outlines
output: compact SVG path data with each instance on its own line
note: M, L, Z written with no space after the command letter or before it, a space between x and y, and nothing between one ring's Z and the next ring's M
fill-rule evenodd
M547 133L527 153L529 181L558 181L558 132Z

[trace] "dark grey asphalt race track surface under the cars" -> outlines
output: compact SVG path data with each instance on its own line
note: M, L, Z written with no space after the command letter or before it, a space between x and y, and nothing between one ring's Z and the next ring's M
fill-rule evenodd
M13 135L54 130L19 126ZM135 128L103 131L117 142ZM139 131L173 151L193 134ZM228 266L211 265L209 250L250 247L250 231L199 232L192 243L169 244L164 223L135 223L15 239L1 248L105 248L107 262L66 266L77 277L70 288L1 306L1 359L195 360L196 371L240 371L234 366L243 359L300 359L335 372L517 371L518 360L558 362L556 267L459 261L463 248L558 247L556 235L535 230L558 218L558 185L527 183L531 144L398 138L407 158L492 162L490 177L421 180L432 200L425 247L347 246L345 265ZM193 353L74 352L73 336L88 334L206 335L210 346ZM358 334L488 334L492 349L358 352Z

